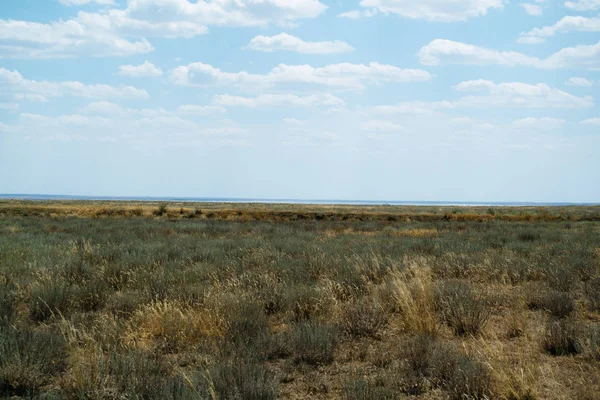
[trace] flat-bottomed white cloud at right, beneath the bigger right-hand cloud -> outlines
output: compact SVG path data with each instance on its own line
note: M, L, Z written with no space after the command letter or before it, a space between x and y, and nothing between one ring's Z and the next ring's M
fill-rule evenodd
M471 80L454 87L459 92L482 93L462 97L457 107L523 107L523 108L588 108L594 102L589 97L577 97L544 83L531 85L522 82L495 83Z

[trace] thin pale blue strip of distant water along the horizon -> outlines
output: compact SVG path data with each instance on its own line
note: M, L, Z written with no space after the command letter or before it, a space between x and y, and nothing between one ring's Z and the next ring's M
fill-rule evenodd
M462 207L552 207L591 206L594 203L535 203L535 202L478 202L478 201L404 201L404 200L300 200L253 199L228 197L136 197L136 196L71 196L51 194L0 194L0 199L14 200L105 200L105 201L165 201L186 203L265 203L265 204L318 204L318 205L395 205L395 206L462 206Z

